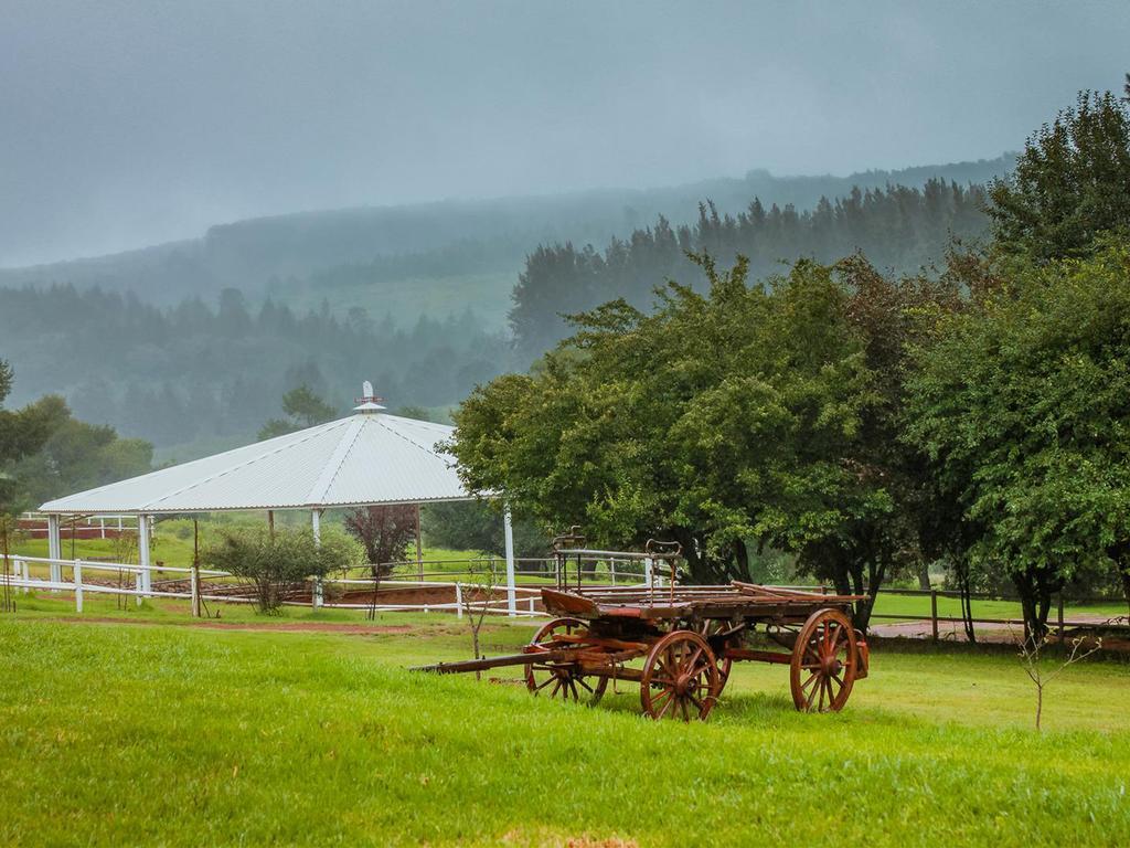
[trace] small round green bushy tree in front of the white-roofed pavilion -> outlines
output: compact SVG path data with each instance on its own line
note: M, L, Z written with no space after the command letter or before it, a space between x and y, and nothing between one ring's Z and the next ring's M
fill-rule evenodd
M221 529L207 552L212 566L245 578L261 613L278 611L288 592L311 578L324 578L360 564L360 545L346 534L323 528L320 540L308 527Z

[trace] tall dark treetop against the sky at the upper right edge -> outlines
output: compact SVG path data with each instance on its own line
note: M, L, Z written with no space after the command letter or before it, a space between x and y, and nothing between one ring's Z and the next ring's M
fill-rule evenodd
M1103 233L1130 232L1130 104L1080 92L994 181L988 208L998 250L1046 262L1085 257Z

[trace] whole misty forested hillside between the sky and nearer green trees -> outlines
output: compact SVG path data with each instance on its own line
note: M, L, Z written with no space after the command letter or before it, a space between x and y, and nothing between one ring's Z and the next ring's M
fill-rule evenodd
M1006 165L842 179L754 172L646 192L294 215L2 271L10 403L61 393L82 419L179 459L217 439L253 438L303 382L340 408L365 379L393 406L442 408L525 369L560 337L563 312L617 296L646 305L668 276L695 283L684 250L723 261L746 252L755 276L782 259L857 249L880 267L914 270L940 258L950 235L981 232L981 191L962 187ZM931 173L949 182L890 187ZM713 208L703 210L706 199ZM395 246L403 250L379 252Z

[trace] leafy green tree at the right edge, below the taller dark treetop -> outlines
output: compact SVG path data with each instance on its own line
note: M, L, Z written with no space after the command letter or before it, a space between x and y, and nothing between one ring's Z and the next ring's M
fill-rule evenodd
M910 380L911 438L1015 583L1031 632L1052 594L1114 568L1130 599L1130 248L1008 266L939 321Z

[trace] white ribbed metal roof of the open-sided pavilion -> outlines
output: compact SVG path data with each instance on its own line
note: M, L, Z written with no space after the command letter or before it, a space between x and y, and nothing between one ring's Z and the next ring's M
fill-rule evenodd
M436 443L452 427L372 410L43 504L42 512L212 512L468 500Z

